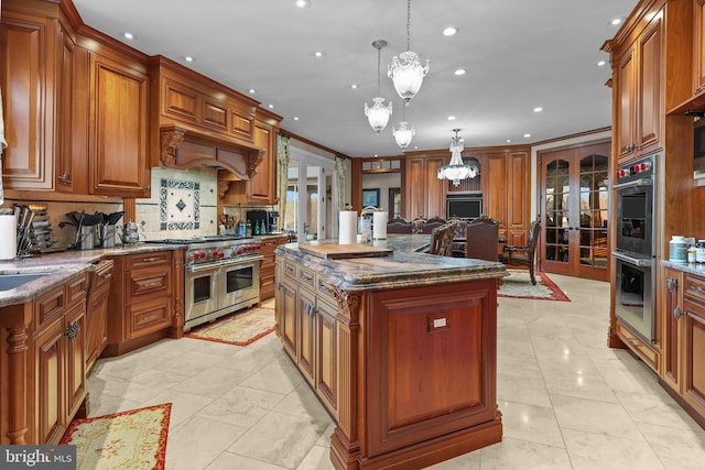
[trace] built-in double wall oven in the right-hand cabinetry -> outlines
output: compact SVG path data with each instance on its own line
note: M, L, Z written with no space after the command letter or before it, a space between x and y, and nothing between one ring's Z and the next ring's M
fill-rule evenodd
M652 293L655 283L655 168L654 154L617 170L615 315L648 342L654 341Z

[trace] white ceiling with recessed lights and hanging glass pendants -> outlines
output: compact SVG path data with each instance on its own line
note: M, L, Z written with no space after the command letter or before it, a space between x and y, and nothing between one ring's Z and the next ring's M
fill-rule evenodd
M637 0L414 0L411 50L431 61L405 108L416 135L409 150L534 143L610 125L609 57L599 48ZM162 54L248 94L284 118L282 129L349 156L397 155L391 127L401 99L387 64L406 46L404 0L74 0L84 22L149 54ZM455 36L443 36L448 25ZM134 34L128 41L124 32ZM364 103L392 100L378 136ZM313 51L325 52L315 58ZM184 57L191 55L193 63ZM467 74L457 77L456 68ZM350 88L358 84L357 89ZM542 107L535 113L533 108ZM299 117L297 121L294 117ZM455 116L455 121L448 121ZM530 133L531 138L524 138Z

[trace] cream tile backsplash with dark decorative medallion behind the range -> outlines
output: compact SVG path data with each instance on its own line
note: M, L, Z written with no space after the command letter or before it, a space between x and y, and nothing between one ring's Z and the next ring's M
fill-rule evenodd
M137 222L148 240L193 238L218 232L218 173L152 168L152 197L137 199Z

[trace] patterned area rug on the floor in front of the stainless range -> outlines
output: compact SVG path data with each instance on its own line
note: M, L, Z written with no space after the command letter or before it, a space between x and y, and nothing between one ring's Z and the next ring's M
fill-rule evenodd
M223 317L213 324L196 328L185 336L228 345L247 346L274 331L274 309L254 307Z

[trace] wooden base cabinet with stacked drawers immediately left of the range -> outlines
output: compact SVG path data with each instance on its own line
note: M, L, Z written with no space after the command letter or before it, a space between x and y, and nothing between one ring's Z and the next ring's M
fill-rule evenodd
M177 287L183 269L175 264L176 256L178 252L163 250L113 258L120 275L110 285L104 356L122 354L174 335L174 316L183 308Z

